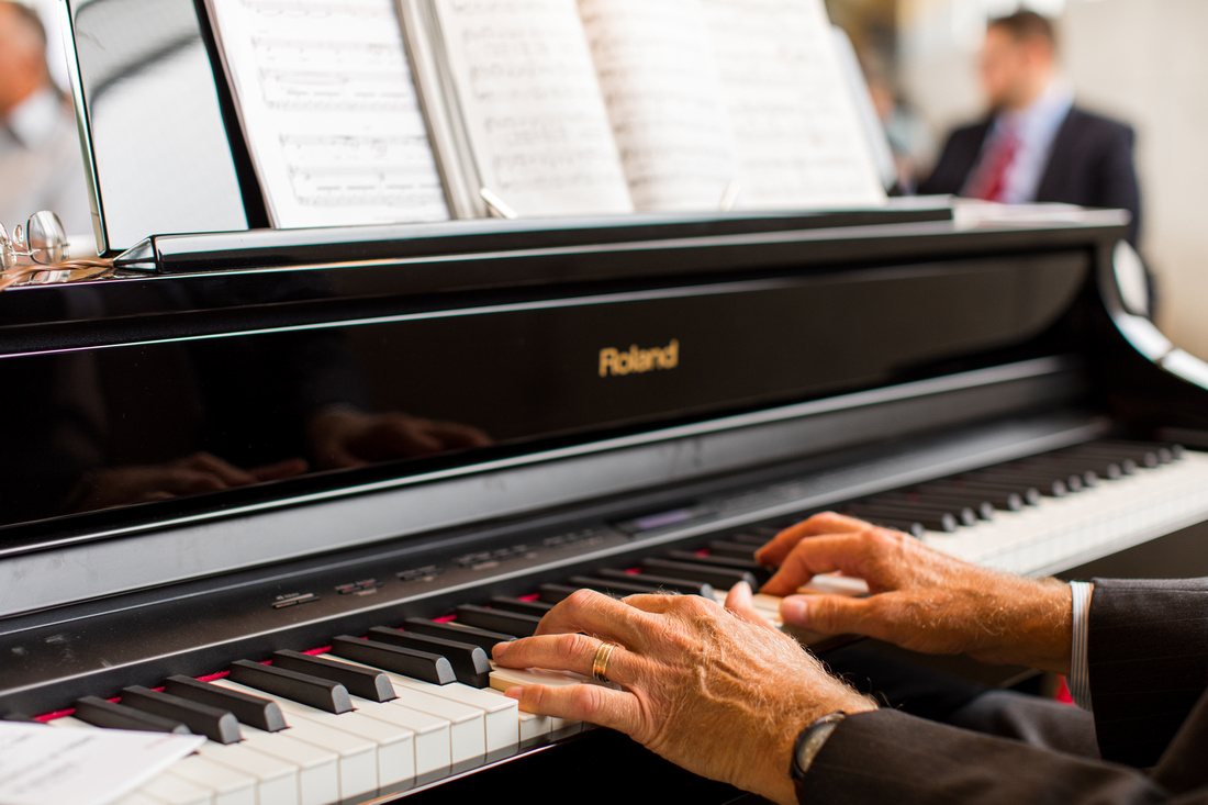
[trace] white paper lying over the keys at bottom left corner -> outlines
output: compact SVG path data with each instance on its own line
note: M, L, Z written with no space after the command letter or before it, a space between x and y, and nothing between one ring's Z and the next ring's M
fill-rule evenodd
M0 803L104 805L204 742L201 735L0 722Z

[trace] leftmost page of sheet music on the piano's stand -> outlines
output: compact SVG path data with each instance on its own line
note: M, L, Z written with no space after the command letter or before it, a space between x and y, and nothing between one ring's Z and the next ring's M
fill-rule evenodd
M278 227L445 220L393 0L207 0Z

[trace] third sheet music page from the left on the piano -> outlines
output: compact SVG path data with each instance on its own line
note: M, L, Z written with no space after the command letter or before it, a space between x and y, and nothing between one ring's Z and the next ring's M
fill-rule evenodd
M738 179L697 0L579 0L638 209L718 209Z

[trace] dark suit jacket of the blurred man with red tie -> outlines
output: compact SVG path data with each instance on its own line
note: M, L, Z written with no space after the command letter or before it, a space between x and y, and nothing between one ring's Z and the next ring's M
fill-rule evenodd
M953 132L918 191L958 195L977 164L992 124L989 118ZM1140 191L1133 167L1134 139L1125 123L1074 106L1057 129L1034 201L1126 209L1133 218L1128 241L1136 244Z

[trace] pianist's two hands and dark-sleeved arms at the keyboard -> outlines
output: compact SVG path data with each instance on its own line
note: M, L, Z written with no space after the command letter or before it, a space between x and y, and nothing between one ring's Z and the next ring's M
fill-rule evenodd
M765 591L789 592L815 573L835 571L869 583L872 595L860 600L785 598L785 621L811 629L1063 673L1071 654L1086 650L1074 639L1067 585L968 564L850 517L817 515L778 534L759 557L782 567ZM507 695L522 710L620 729L685 768L776 801L836 795L849 801L1036 801L1055 792L1061 801L1151 801L1208 790L1208 776L1197 765L1208 748L1206 624L1206 580L1096 580L1088 622L1094 737L1103 759L1139 768L1156 763L1148 772L1078 757L1076 741L1057 745L1061 752L1049 748L1088 726L1082 711L1065 705L995 691L988 705L968 702L953 713L965 724L970 713L980 713L986 732L1021 739L1014 741L878 711L771 629L744 584L736 585L725 608L692 596L615 601L581 591L554 607L534 637L496 647L495 660L590 673L600 642L616 642L608 658L612 689L522 685ZM1081 659L1073 662L1076 668ZM1151 679L1198 671L1195 689L1138 684L1142 664ZM1122 672L1121 666L1132 667ZM823 718L834 713L841 713L837 720ZM1034 723L1010 734L1011 722L1024 713ZM838 725L829 726L823 741L811 741L820 723Z

